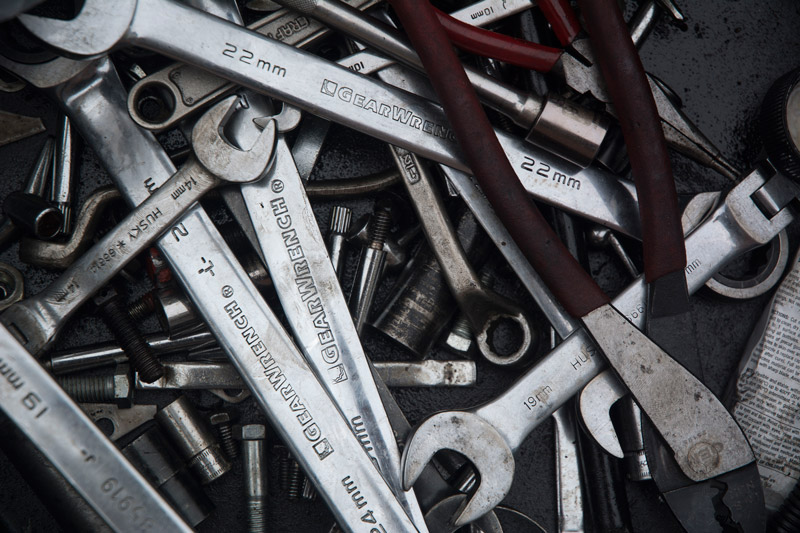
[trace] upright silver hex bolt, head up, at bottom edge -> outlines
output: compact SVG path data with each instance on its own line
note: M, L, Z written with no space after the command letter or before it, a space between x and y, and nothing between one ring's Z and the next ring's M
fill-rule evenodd
M262 424L241 426L238 432L242 439L247 518L251 533L267 530L267 471L264 467L266 432L266 427Z

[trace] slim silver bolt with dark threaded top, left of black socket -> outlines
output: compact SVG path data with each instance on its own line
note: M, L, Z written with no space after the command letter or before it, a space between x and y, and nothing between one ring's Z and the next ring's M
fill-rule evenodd
M383 266L386 261L383 244L389 235L391 223L391 211L385 207L377 208L370 222L369 244L361 250L356 280L350 294L350 312L353 314L353 323L358 333L364 329L367 315L375 299L378 281L383 274Z

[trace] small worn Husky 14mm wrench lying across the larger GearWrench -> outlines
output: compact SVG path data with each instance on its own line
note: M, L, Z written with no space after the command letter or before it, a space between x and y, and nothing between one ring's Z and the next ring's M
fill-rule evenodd
M236 103L231 97L198 121L192 141L196 159L173 175L145 202L73 263L43 292L8 308L0 321L26 349L47 349L67 319L125 264L170 228L200 197L223 181L246 182L264 175L272 162L275 125L250 151L228 144L220 131Z

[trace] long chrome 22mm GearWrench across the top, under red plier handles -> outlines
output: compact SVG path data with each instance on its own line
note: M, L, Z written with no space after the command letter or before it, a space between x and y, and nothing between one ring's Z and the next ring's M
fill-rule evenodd
M194 62L311 113L467 170L444 113L435 103L169 0L127 0L124 8L104 4L93 7L95 11L88 9L95 2L85 4L79 15L82 21L30 16L20 20L47 42L73 53L95 54L124 42ZM175 25L171 22L175 20L187 22ZM77 39L76 32L97 35ZM538 199L625 234L639 235L630 183L594 167L581 170L511 135L498 132L498 138L520 180ZM614 201L601 200L607 198Z

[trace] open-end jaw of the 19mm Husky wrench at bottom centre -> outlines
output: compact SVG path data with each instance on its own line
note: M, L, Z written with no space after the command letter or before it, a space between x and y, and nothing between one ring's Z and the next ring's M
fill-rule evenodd
M453 516L461 527L491 511L508 494L514 478L514 455L502 435L489 422L465 411L437 413L411 435L400 468L403 487L409 490L425 466L441 450L464 455L475 467L478 488Z

